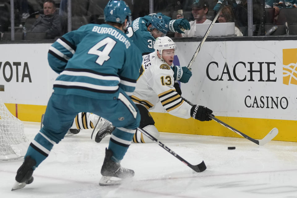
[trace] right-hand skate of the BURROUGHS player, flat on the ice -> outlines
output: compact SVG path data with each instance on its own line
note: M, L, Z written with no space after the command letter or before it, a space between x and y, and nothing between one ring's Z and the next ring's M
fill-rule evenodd
M105 149L105 158L101 168L102 178L99 181L100 186L120 185L122 179L134 176L134 171L123 168L120 163L111 159L113 152Z

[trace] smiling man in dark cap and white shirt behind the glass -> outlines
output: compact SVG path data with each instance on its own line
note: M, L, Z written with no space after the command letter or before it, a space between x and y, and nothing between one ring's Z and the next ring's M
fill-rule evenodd
M207 0L194 0L192 4L192 15L194 16L194 21L190 21L190 30L184 30L184 34L175 33L174 37L195 37L196 24L211 24L211 20L206 18L208 12L208 2ZM180 15L176 16L177 19L183 18Z

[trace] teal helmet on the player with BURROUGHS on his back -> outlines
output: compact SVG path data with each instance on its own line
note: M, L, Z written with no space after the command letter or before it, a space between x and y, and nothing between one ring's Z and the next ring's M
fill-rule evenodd
M131 10L128 4L122 0L110 0L104 8L104 21L123 24L125 19L128 20L128 25L132 24Z

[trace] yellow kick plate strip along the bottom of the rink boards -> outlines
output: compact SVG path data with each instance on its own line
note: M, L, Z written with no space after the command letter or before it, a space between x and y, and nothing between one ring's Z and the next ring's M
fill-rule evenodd
M16 115L15 104L5 104L9 111ZM23 121L40 122L41 115L44 114L46 106L42 105L18 105L18 118ZM225 137L241 137L235 132L230 131L226 127L216 123L215 121L200 122L192 118L182 119L167 113L151 113L155 125L159 131L211 135ZM277 127L279 132L273 140L294 141L297 142L295 134L297 121L294 120L275 120L261 118L238 118L238 117L222 117L216 116L218 119L251 136L255 139L264 138L268 132Z

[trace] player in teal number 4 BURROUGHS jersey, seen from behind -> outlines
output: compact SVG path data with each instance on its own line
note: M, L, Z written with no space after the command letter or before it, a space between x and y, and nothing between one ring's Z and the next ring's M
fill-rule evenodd
M112 177L134 176L121 167L136 128L139 110L129 95L135 89L142 56L124 34L131 22L128 5L111 0L104 9L106 24L88 24L68 32L49 49L50 67L59 76L49 98L43 127L32 140L23 164L17 170L12 190L33 182L33 171L59 143L82 111L93 112L110 120L116 127L101 168L100 185L116 185Z

